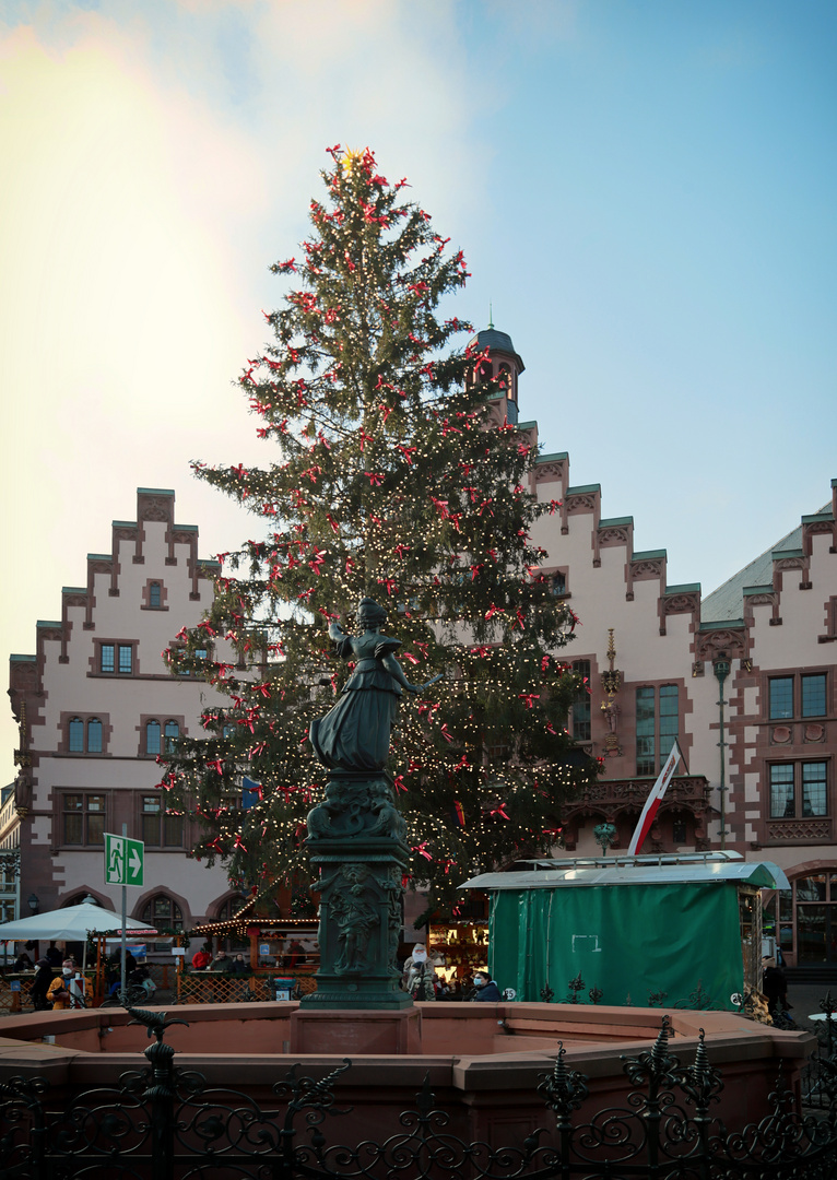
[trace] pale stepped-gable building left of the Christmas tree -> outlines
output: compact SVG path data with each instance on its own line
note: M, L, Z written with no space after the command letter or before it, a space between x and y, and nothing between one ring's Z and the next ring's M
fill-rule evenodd
M188 930L241 904L223 868L185 854L196 833L166 813L156 789L157 754L200 728L211 699L162 657L212 598L218 566L198 557L197 544L195 525L175 523L174 492L139 489L136 520L113 522L111 551L87 555L86 585L65 586L61 617L38 622L34 654L11 656L19 772L0 811L0 850L19 857L17 916L87 893L119 910L120 887L105 884L103 837L123 825L145 844L131 917Z

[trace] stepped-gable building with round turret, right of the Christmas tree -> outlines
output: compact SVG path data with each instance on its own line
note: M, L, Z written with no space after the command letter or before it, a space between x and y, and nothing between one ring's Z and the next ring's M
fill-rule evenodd
M476 342L484 371L506 373L497 422L538 447L510 337ZM550 509L534 533L544 572L583 623L567 658L589 693L569 726L604 760L565 808L563 848L601 856L607 824L627 851L676 739L682 762L642 851L777 863L792 890L765 903L789 963L837 968L837 479L819 511L706 597L669 585L665 549L634 549L633 518L606 517L601 486L574 485L565 452L544 448L530 490Z

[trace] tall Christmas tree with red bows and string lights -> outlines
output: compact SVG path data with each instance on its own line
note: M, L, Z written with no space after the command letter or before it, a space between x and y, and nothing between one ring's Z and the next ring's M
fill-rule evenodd
M558 653L575 620L530 539L555 510L527 490L536 455L491 415L505 378L483 379L475 341L452 347L473 329L436 315L465 283L462 251L368 149L329 155L310 238L272 268L292 288L267 315L272 342L238 382L275 460L195 464L262 524L218 555L211 610L166 651L220 703L203 735L162 756L161 787L170 809L200 818L195 853L221 858L231 880L309 879L306 815L325 769L308 728L349 670L327 629L348 630L373 597L405 671L444 674L403 699L390 771L410 884L446 916L466 877L555 845L562 799L595 776L564 729L580 682Z

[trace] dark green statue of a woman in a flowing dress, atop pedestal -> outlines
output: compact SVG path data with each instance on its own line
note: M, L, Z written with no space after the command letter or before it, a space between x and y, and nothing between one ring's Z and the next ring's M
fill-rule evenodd
M358 661L334 708L310 723L310 743L329 769L382 771L401 690L420 693L439 680L410 683L393 654L400 640L380 634L385 622L384 608L372 598L361 598L358 623L362 635L346 635L336 623L328 628L338 655Z

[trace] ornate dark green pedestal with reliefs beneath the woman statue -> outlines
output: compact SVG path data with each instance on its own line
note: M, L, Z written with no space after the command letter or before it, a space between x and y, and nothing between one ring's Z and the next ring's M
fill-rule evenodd
M308 815L307 844L320 872L318 990L300 1001L299 1020L326 1009L412 1008L395 966L410 852L404 833L385 771L328 772L326 798Z

